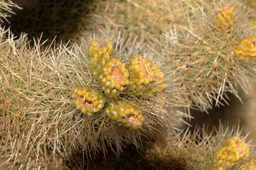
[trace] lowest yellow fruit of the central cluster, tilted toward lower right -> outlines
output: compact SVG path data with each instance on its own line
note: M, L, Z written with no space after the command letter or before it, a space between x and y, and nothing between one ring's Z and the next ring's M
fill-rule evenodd
M117 125L130 130L138 130L142 127L144 116L141 111L132 104L124 101L110 102L106 108L107 116Z

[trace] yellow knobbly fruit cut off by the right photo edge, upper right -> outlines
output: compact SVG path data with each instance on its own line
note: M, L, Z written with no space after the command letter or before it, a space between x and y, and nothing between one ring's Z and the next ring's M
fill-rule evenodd
M242 40L240 45L235 48L234 53L236 56L244 59L256 59L256 37L249 36Z

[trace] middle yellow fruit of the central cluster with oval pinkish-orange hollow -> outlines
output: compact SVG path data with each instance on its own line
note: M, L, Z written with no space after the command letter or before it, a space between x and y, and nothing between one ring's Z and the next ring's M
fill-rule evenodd
M117 95L118 91L122 91L129 84L129 72L125 64L117 59L111 60L102 68L99 78L102 89L109 96Z

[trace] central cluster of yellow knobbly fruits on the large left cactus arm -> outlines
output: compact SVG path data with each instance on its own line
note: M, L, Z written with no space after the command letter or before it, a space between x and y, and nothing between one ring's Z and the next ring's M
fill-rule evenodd
M99 112L108 99L110 102L105 108L107 116L119 126L138 130L144 122L142 111L128 102L113 100L131 95L151 96L164 91L166 88L164 73L156 63L149 62L142 56L134 56L126 65L112 57L112 52L110 40L90 42L88 49L90 73L95 77L102 91L93 90L90 86L76 86L72 98L75 106L87 115ZM107 99L103 96L107 96Z

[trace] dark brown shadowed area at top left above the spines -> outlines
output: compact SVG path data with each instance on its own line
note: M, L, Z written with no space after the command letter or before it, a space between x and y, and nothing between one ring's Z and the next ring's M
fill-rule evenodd
M91 2L33 0L16 3L22 8L14 8L15 14L9 13L4 26L10 27L16 36L27 33L31 42L33 38L41 37L42 41L48 40L45 45L50 45L53 40L68 42L79 32L82 18L86 18L87 6Z

